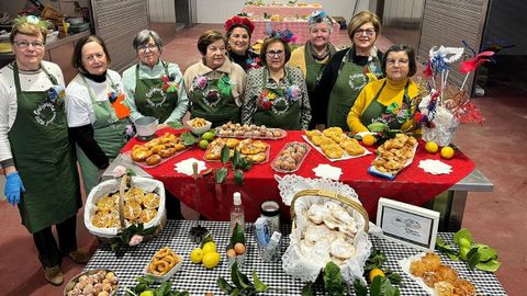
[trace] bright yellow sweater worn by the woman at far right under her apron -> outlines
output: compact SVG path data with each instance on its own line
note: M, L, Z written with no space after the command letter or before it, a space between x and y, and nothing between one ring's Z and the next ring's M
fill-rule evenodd
M360 122L360 116L366 111L366 109L370 105L370 103L373 101L373 99L375 98L375 94L382 88L382 84L384 83L384 81L386 81L386 86L379 94L379 98L378 98L379 103L385 106L389 106L393 102L397 102L400 106L402 105L404 87L406 84L406 80L402 82L394 82L384 78L381 80L371 81L359 93L359 96L357 96L357 100L355 101L354 106L351 106L351 110L348 113L347 123L351 132L354 133L368 132L368 128L365 125L362 125L362 123ZM419 90L417 89L417 86L413 81L410 81L408 96L412 99L416 96ZM379 116L381 115L382 114L379 114Z

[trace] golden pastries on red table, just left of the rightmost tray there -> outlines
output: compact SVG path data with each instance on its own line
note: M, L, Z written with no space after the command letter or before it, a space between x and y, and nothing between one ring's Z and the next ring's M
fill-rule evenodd
M321 147L324 155L332 159L348 156L361 156L366 152L359 141L344 134L340 127L329 127L323 132L318 129L307 130L305 135L313 145Z

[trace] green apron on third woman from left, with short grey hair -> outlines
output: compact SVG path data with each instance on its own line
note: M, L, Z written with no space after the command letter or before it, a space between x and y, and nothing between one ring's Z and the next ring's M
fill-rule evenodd
M165 65L165 75L169 77L168 65ZM160 78L139 79L139 65L135 68L135 105L137 111L145 116L154 116L159 123L167 121L168 116L178 105L178 93L162 90L165 82Z

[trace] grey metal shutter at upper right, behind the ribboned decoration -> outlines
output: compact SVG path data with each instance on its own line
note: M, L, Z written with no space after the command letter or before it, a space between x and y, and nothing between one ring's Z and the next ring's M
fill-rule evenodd
M489 0L427 0L423 14L418 55L427 59L431 46L460 47L463 46L461 41L466 41L474 50L478 50L487 5ZM448 81L460 87L464 75L460 73L458 68L459 61L451 65ZM472 89L473 78L474 75L471 73L467 81L469 92Z

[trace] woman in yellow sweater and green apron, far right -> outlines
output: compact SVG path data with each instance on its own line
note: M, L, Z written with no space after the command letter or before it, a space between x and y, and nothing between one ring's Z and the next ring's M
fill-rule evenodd
M368 132L368 125L380 122L391 129L415 126L412 114L419 90L410 80L417 65L414 50L405 45L393 45L384 55L384 79L372 81L362 89L348 114L351 132Z

